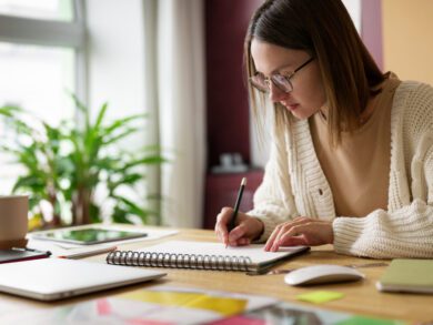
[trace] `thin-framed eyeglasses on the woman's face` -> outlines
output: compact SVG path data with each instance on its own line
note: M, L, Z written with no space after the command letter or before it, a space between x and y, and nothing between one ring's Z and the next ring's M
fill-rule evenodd
M292 73L289 75L282 75L280 73L272 74L271 77L264 77L262 73L258 72L253 77L250 77L250 83L252 87L258 89L261 92L269 92L271 88L271 81L272 83L282 92L289 93L293 91L293 84L292 84L292 78L296 74L298 71L300 71L302 68L304 68L306 64L309 64L311 61L313 61L314 58L310 58L306 62L301 64L299 68L296 68Z

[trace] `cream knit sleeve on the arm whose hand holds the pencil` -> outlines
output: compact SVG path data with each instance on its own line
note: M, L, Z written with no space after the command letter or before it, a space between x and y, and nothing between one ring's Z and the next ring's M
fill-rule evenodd
M268 240L278 224L295 214L288 154L284 136L274 134L263 182L254 194L254 209L248 212L248 215L260 219L264 224L259 242Z

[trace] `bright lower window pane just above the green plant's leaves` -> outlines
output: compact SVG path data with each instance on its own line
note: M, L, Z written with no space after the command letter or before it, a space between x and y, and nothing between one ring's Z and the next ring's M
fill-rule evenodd
M30 110L50 124L73 118L66 97L66 89L74 90L73 68L72 49L0 43L0 102Z

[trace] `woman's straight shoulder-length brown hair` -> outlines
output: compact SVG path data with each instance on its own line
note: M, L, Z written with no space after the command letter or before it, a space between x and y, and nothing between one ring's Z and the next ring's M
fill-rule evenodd
M244 42L248 77L255 73L251 41L304 50L316 59L329 105L328 125L333 144L341 132L360 126L360 115L384 77L363 44L341 0L268 0L253 14ZM256 93L249 87L254 115L259 118ZM260 97L265 102L265 97ZM291 114L275 106L276 125Z

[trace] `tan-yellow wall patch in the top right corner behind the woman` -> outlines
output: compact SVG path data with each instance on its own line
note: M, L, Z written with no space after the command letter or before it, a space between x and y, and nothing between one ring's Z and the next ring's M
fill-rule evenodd
M433 1L382 0L384 71L433 84Z

